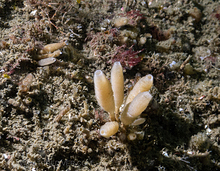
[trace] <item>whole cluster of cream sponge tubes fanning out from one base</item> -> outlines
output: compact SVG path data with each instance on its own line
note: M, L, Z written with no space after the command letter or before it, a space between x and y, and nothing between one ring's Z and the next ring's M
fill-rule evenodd
M111 120L101 126L100 135L109 138L116 134L119 129L119 120L122 122L122 126L134 123L152 99L152 95L149 93L152 85L152 75L142 77L129 93L121 116L119 116L119 109L124 100L124 77L120 62L115 62L112 67L111 82L101 70L95 71L95 96L99 105L109 113Z

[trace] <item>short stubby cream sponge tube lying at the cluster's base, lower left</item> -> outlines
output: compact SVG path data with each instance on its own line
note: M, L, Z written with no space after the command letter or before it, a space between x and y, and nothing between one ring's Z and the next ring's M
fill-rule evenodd
M113 122L106 122L104 125L100 128L100 135L109 138L112 135L116 134L119 129L119 124L116 121Z

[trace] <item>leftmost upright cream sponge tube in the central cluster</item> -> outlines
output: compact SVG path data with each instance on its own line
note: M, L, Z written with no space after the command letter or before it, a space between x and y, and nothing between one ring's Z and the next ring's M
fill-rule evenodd
M115 104L110 81L101 70L94 73L95 96L99 105L110 114L110 119L115 120Z

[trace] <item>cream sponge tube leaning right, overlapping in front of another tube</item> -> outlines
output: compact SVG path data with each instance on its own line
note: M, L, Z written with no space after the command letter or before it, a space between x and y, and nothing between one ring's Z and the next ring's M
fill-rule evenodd
M134 100L125 107L121 115L122 123L124 125L131 124L147 108L151 99L152 95L148 91L139 93Z

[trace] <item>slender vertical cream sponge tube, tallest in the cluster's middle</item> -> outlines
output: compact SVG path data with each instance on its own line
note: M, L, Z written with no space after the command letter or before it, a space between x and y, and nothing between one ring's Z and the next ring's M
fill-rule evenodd
M119 108L124 99L124 76L120 62L115 62L111 70L111 84L115 102L115 115L118 118Z

